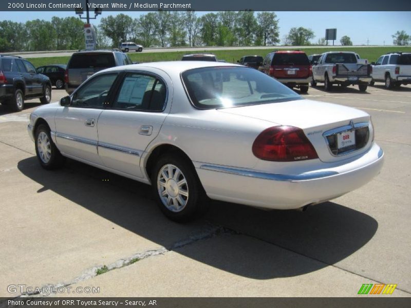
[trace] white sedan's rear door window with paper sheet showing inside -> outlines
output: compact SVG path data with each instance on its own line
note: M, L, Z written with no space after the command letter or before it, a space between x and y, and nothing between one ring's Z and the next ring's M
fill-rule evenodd
M113 108L162 111L166 98L164 83L151 75L128 73L117 94Z

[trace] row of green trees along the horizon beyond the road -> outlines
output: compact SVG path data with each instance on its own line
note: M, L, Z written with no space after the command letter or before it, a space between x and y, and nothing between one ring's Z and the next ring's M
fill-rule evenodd
M282 40L274 12L223 11L201 16L193 10L156 11L132 18L126 14L102 17L96 27L98 48L117 48L121 42L144 47L182 46L288 46L326 45L311 29L293 27ZM51 21L0 22L0 52L72 50L84 48L84 22L77 17L52 17ZM395 45L407 45L405 31L393 35ZM352 45L343 36L341 45Z

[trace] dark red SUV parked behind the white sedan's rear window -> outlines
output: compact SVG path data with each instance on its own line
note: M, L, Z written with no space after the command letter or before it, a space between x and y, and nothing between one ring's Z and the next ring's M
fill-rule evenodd
M308 83L311 79L310 61L304 51L270 52L258 70L290 88L300 88L302 93L308 91Z

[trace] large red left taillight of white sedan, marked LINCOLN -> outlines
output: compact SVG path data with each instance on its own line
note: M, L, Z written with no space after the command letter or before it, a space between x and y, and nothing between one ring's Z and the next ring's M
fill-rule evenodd
M253 143L255 157L276 162L318 158L317 152L301 128L274 126L262 131Z

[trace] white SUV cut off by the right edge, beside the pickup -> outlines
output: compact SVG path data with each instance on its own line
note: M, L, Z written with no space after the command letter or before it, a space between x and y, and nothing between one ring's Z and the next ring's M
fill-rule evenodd
M390 52L372 64L372 80L384 82L387 89L411 84L411 52Z

